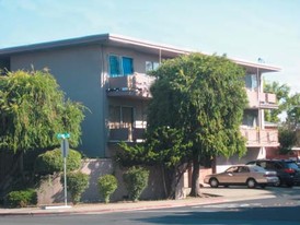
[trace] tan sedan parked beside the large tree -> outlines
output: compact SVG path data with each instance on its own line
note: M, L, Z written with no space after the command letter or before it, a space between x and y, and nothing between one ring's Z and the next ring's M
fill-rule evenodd
M210 185L211 188L219 186L247 186L255 188L261 186L265 188L267 185L278 182L276 171L267 171L264 168L255 165L235 165L229 167L220 174L207 175L204 179L205 183Z

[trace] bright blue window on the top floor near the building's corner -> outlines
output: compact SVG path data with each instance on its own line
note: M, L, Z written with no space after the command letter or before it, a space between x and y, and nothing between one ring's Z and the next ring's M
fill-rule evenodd
M134 73L134 59L117 55L109 55L109 76L126 76Z

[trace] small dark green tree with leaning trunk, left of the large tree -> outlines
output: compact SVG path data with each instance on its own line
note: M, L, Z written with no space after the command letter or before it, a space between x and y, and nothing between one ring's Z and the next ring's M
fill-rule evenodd
M154 166L162 176L165 198L174 199L175 190L189 165L187 161L189 143L185 143L182 129L159 127L146 133L146 142L130 146L120 143L115 159L125 167Z

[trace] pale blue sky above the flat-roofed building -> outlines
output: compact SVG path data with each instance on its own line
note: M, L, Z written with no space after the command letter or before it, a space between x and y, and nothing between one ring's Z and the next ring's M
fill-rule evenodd
M300 0L0 0L0 48L112 33L281 68L300 93Z

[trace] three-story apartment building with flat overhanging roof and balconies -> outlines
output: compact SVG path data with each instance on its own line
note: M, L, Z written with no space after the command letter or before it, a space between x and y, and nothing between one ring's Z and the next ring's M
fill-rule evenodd
M147 127L149 87L147 72L170 58L192 52L166 45L103 34L0 49L0 69L49 69L67 97L90 110L82 123L79 149L89 157L109 158L119 141L140 142ZM249 107L241 132L247 139L243 158L218 157L217 170L267 157L279 145L277 127L264 119L264 109L276 108L276 96L263 92L263 74L277 67L232 59L246 70ZM70 133L72 131L69 131Z

